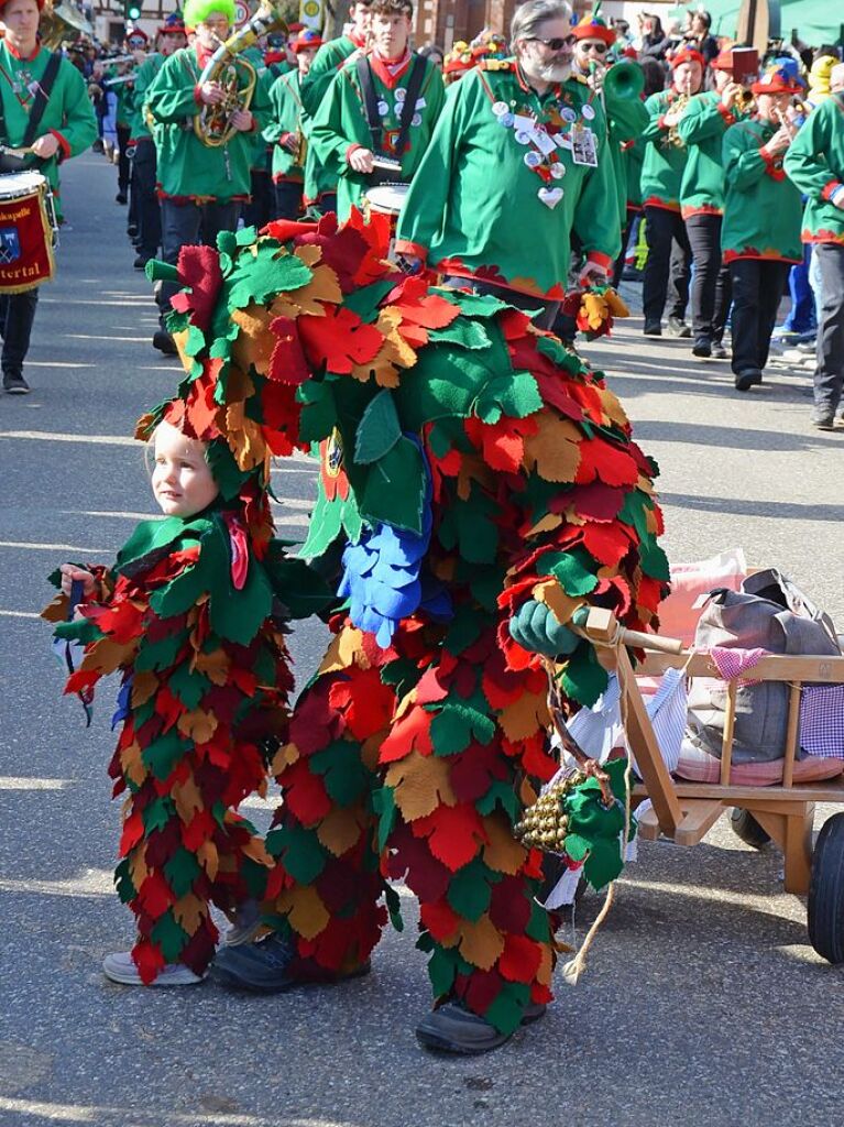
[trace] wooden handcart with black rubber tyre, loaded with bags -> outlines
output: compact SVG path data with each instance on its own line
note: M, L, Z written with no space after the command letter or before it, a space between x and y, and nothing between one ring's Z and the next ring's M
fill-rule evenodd
M668 773L636 678L660 675L670 666L685 667L690 676L720 677L708 655L691 654L673 639L619 630L607 611L590 612L586 633L598 646L610 646L608 653L604 649L604 664L614 666L619 676L622 717L642 779L633 790L633 805L646 798L652 804L639 818L641 837L655 841L661 835L678 845L696 845L725 811L746 811L737 824L734 822L739 836L754 845L770 837L780 846L785 890L808 896L812 947L830 962L844 962L844 813L826 820L815 844L812 833L816 804L844 802L844 777L819 783L793 781L802 685L844 683L844 657L775 655L753 667L754 680L780 681L790 686L781 783L748 787L730 781L736 680L728 682L720 780L686 782ZM647 649L646 660L636 673L628 645L643 645Z

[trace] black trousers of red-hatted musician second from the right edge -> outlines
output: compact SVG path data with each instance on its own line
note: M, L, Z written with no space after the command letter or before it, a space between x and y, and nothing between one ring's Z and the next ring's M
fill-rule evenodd
M732 371L767 363L771 334L776 325L782 292L788 282L789 263L763 258L739 258L730 263L732 282Z

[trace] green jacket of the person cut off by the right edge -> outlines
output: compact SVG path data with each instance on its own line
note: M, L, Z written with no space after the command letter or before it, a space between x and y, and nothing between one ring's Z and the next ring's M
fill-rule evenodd
M844 96L830 95L812 109L785 153L784 168L807 196L803 242L844 243L844 210L830 199L834 193L844 195Z

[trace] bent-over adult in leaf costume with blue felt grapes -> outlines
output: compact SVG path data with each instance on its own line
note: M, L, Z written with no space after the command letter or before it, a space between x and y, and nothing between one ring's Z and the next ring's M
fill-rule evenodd
M186 417L201 433L213 400L248 427L250 397L290 391L275 424L320 459L302 554L346 600L273 764L269 934L214 974L364 973L405 878L437 1001L417 1033L474 1053L551 999L541 854L514 836L557 767L541 655L594 702L606 674L567 623L595 603L651 628L668 570L656 468L601 376L504 301L399 273L388 239L353 211L180 264Z

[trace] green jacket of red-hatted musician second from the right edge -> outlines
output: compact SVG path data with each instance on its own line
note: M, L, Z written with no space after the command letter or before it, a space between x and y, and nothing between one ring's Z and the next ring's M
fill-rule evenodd
M725 263L736 258L802 261L800 193L782 170L782 160L762 152L775 132L770 122L746 121L725 133Z

